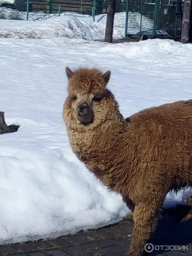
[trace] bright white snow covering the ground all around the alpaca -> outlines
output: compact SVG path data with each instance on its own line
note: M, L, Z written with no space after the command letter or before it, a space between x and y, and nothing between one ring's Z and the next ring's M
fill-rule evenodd
M65 28L76 22L54 17L52 26L59 27L59 19ZM42 29L41 40L26 35L26 21L1 20L1 35L14 25L23 36L0 40L0 110L8 125L20 125L18 132L1 134L0 244L75 234L116 223L129 212L122 196L108 191L72 153L61 118L66 66L111 70L109 89L125 117L192 95L192 45L83 40L97 34L89 23L81 24L78 33L63 29L66 36L57 36L49 20L33 22L34 31L50 26L51 36L45 38ZM184 203L190 195L190 189L168 194L164 207Z

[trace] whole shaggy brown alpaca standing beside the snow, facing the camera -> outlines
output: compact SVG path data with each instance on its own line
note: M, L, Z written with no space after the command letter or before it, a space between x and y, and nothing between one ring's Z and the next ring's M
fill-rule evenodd
M111 72L66 72L63 120L72 150L134 211L129 255L142 255L166 194L192 184L192 100L145 109L126 122L106 88Z

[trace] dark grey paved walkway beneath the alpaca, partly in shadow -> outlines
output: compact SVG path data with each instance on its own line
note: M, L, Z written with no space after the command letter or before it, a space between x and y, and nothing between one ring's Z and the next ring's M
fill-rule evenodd
M74 236L0 246L0 256L125 256L132 227L132 220L124 220L110 227L79 232ZM152 245L148 249L152 246L155 249L152 253L146 253L149 256L191 256L192 221L179 222L173 216L164 216L159 220L150 243Z

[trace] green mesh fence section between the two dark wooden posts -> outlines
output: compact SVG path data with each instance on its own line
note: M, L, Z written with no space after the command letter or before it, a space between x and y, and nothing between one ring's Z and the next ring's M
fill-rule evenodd
M127 0L126 35L179 38L182 1Z

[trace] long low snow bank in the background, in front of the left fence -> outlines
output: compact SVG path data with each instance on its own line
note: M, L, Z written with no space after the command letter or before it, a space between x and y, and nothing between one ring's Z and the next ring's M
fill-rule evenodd
M83 38L85 40L104 40L105 24L80 20L76 16L50 16L44 21L1 20L0 37L3 38ZM118 29L114 31L114 38L122 38Z

